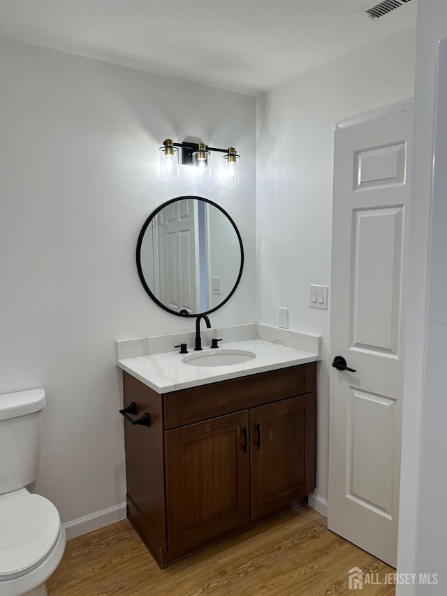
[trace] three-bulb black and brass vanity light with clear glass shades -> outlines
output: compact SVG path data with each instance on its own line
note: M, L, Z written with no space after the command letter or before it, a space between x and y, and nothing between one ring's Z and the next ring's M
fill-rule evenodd
M211 152L223 153L223 182L239 182L240 155L236 153L235 147L219 149L219 147L208 147L205 143L173 143L171 138L163 140L160 147L160 175L170 177L179 175L179 148L182 149L182 166L193 166L193 177L195 180L208 180L211 177Z

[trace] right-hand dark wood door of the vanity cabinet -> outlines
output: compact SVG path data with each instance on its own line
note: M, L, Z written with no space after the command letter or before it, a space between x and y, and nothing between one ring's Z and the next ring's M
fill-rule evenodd
M316 395L250 410L251 518L302 502L315 488Z

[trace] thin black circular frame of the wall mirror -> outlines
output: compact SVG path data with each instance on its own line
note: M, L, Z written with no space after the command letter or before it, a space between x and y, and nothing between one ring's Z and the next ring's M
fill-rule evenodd
M198 201L204 201L205 203L209 203L210 205L213 205L213 207L219 209L219 211L221 211L223 213L223 215L225 215L229 219L230 224L233 226L235 233L237 235L237 240L239 240L239 246L240 246L240 270L237 275L237 279L233 286L233 289L230 291L230 293L228 293L228 296L226 296L226 298L224 300L222 300L221 303L219 303L217 306L215 306L214 308L212 308L210 310L206 310L205 312L191 313L191 314L189 312L186 312L186 310L181 310L180 312L175 312L175 310L172 310L172 309L168 308L166 305L164 305L163 303L161 303L160 300L158 298L156 298L156 296L154 296L154 293L152 293L152 291L149 289L149 286L147 285L145 277L143 275L142 266L141 266L142 239L143 239L143 236L145 235L145 231L147 230L147 227L151 223L152 219L154 219L154 217L157 215L157 213L159 213L167 205L170 205L170 203L175 203L175 201L181 201L182 199L188 199L188 198L196 198L196 199L198 199ZM177 317L192 318L192 317L198 317L199 314L210 314L210 312L214 312L214 311L218 310L224 304L226 304L228 302L228 300L230 300L231 296L233 296L233 293L235 293L235 290L236 290L237 286L239 285L240 278L242 277L242 269L244 268L244 247L242 245L242 238L241 238L240 232L237 229L235 222L230 217L230 215L228 215L226 210L221 208L220 205L217 205L217 203L214 203L214 201L210 201L209 198L204 198L203 196L193 196L193 195L176 196L175 198L171 198L169 201L166 201L166 203L159 205L159 207L157 207L154 211L152 211L152 213L146 219L145 223L143 224L143 226L141 228L140 234L138 235L137 249L136 249L136 261L137 261L138 277L140 277L140 282L142 283L142 286L145 289L145 291L147 292L147 294L149 294L149 297L152 298L152 300L154 300L154 303L159 305L159 307L161 307L163 310L166 310L166 312L170 312L171 314L176 314Z

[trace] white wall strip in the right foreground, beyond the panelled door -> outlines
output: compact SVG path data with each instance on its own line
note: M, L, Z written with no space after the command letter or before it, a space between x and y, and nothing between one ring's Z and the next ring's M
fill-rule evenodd
M397 571L437 573L438 583L397 586L399 596L447 594L446 61L432 192L438 50L443 38L446 1L420 2ZM447 58L445 47L444 53Z

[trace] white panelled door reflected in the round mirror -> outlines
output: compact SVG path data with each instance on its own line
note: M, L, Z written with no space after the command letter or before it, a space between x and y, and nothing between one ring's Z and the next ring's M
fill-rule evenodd
M170 309L189 313L197 308L196 201L173 201L158 215L160 300Z

